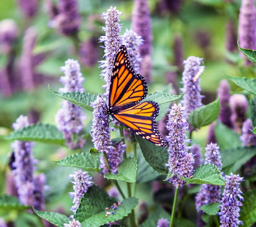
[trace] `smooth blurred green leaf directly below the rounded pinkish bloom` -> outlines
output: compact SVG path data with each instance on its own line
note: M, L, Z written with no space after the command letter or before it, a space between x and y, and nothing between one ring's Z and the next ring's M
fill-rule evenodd
M215 125L215 136L220 150L241 147L242 142L239 134L217 121Z

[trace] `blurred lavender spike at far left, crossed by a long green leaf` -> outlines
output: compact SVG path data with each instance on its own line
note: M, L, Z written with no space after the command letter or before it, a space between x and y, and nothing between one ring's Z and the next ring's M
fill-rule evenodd
M28 117L20 115L12 127L19 130L29 125ZM34 164L38 163L32 156L33 143L15 140L11 147L15 157L12 163L12 173L18 190L18 198L22 204L41 210L44 208L46 179L44 174L33 176Z

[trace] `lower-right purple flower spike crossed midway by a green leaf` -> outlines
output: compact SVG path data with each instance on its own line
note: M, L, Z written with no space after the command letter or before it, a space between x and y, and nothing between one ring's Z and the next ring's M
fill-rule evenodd
M205 156L204 164L212 163L221 171L222 161L217 144L207 144ZM199 193L196 195L196 210L198 210L199 215L201 215L201 210L199 209L201 206L209 203L220 202L220 190L221 187L218 185L204 184L201 186Z

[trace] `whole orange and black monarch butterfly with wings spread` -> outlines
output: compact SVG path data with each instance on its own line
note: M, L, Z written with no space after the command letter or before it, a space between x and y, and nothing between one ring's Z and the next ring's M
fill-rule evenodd
M116 53L112 70L106 114L111 115L143 139L167 147L167 142L160 135L156 124L158 103L139 102L145 99L146 94L148 94L146 80L142 75L135 74L128 58L127 48L121 45Z

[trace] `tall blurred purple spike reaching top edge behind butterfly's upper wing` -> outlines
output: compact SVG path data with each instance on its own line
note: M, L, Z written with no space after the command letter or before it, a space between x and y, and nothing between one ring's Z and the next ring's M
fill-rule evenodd
M132 30L141 36L143 44L140 45L140 55L142 63L140 65L140 74L145 77L146 82L151 82L152 59L151 59L151 18L148 0L135 0L134 10L132 12Z

